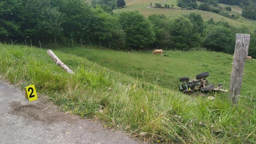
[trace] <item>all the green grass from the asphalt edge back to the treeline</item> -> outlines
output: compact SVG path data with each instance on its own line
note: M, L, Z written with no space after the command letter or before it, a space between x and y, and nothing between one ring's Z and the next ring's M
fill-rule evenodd
M35 84L39 98L47 95L63 111L100 120L104 127L125 130L145 143L255 143L255 59L246 61L243 95L231 106L228 93L183 95L175 85L180 76L192 78L207 70L213 82L228 79L232 55L164 51L166 57L131 51L129 57L126 51L109 49L51 48L74 70L68 74L47 49L1 47L1 78L22 88ZM156 78L159 85L146 82Z

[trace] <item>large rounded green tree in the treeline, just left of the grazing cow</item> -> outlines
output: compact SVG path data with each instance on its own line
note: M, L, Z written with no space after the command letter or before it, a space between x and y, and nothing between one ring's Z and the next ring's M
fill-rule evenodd
M118 19L129 47L139 49L154 42L155 33L152 24L138 11L121 12Z

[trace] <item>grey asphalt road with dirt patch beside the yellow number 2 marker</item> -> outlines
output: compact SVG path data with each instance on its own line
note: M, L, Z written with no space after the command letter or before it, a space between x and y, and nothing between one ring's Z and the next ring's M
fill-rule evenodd
M6 143L139 142L128 134L104 128L100 122L65 114L43 96L29 102L24 90L0 81L0 144Z

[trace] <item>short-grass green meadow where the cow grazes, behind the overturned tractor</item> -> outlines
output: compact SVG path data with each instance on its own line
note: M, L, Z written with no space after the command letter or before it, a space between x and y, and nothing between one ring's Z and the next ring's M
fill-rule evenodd
M113 51L109 49L88 49L88 48L54 48L67 54L75 54L85 57L90 61L111 68L131 77L143 78L142 72L147 82L157 83L164 88L177 90L180 83L179 78L188 76L191 79L200 72L209 71L210 82L223 83L225 89L229 89L229 79L232 68L232 55L220 52L209 51L164 51L166 56L152 56L151 51L132 51L129 58L124 51ZM76 51L75 53L73 53ZM207 66L206 66L207 65ZM256 93L254 84L256 83L256 61L246 61L243 75L242 93L248 91ZM160 79L160 81L156 81ZM224 83L225 81L225 83Z

